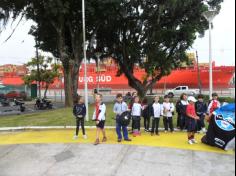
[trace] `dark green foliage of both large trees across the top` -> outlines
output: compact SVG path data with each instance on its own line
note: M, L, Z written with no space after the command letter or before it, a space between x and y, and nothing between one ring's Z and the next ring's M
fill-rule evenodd
M89 41L96 37L98 43L97 50L90 47L89 53L91 57L93 52L112 56L120 67L118 76L125 74L129 85L144 97L158 80L186 60L186 50L197 33L208 29L202 13L210 8L219 11L222 2L86 0L87 37ZM39 47L60 58L65 73L70 65L77 66L72 69L76 75L82 61L81 4L75 0L2 0L0 15L5 21L10 13L13 18L22 14L35 21L30 33ZM145 79L138 80L133 74L136 65L145 69Z

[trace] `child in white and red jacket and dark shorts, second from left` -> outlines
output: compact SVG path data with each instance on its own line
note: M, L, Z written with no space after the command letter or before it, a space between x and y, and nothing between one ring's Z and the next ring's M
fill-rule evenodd
M105 122L106 122L106 105L102 102L102 95L96 94L95 95L95 111L93 114L93 120L96 121L97 126L97 133L96 133L96 141L94 145L100 144L100 132L103 134L102 142L107 141L106 132L105 132Z

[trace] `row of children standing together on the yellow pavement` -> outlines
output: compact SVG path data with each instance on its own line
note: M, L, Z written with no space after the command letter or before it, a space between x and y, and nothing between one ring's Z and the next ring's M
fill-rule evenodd
M95 110L93 120L96 122L97 132L95 145L100 144L100 133L103 134L102 142L107 141L105 132L106 121L106 105L102 102L103 96L101 94L95 95ZM213 100L209 103L204 102L202 95L195 97L188 97L187 94L182 94L180 100L174 105L169 96L164 97L164 102L160 102L160 97L156 96L152 103L148 103L147 99L142 102L137 94L133 94L131 102L127 104L124 101L123 95L116 96L116 102L113 112L116 120L116 133L118 142L132 141L129 138L128 126L131 117L132 121L132 135L133 137L141 136L141 119L144 118L145 132L150 132L151 136L160 135L159 124L163 117L163 124L165 133L174 132L173 116L175 111L178 114L177 128L180 130L187 130L189 144L197 143L194 136L197 131L206 132L205 119L209 117L213 111L220 107L220 102L217 100L218 95L213 94ZM86 115L86 106L84 105L83 97L79 97L75 102L73 114L76 117L76 134L74 139L78 138L79 127L82 127L83 136L87 139L84 129L84 118ZM207 114L209 116L207 116ZM151 126L151 128L150 128ZM122 135L123 134L123 135Z

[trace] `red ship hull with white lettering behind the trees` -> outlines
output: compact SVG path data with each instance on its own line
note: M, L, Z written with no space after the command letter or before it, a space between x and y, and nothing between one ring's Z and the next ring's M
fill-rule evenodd
M83 68L83 67L82 67ZM95 64L88 65L88 87L89 89L95 89L98 86L100 88L111 88L111 89L130 89L127 78L122 75L117 77L117 67L115 65L103 66L102 71L96 71ZM144 80L145 72L142 69L136 68L135 76L139 80ZM79 89L84 88L84 70L80 70L79 77ZM235 67L214 67L213 69L213 84L215 89L226 89L232 88L235 85L232 80L235 75ZM100 79L99 79L100 78ZM0 77L3 85L24 85L21 76L7 75ZM209 70L206 67L200 68L200 80L203 89L209 87ZM199 87L198 71L196 68L187 68L174 70L169 76L163 77L154 86L156 89L174 88L179 85L186 85L191 88ZM55 80L51 89L63 88L63 80Z

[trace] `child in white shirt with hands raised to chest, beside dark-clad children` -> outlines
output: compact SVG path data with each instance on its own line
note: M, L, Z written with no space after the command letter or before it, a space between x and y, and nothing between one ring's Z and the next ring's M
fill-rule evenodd
M163 103L163 123L165 127L165 132L167 132L170 128L170 131L174 132L173 126L173 113L175 111L175 106L170 102L170 98L168 95L164 97Z

